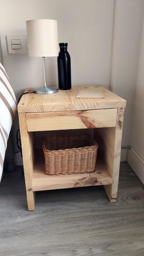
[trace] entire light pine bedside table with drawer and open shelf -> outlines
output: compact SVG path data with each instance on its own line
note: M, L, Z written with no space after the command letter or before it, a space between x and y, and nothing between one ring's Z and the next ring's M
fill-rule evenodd
M52 95L30 93L18 104L24 177L29 210L35 209L35 191L104 185L110 202L116 202L121 136L126 101L103 87L104 98L76 98L85 87L73 86ZM44 161L35 158L34 133L92 128L102 161L90 174L46 175ZM86 130L85 130L86 133Z

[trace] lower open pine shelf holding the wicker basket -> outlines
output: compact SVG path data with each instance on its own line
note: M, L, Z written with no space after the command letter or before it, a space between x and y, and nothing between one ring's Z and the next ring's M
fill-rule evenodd
M97 161L95 172L88 174L47 175L45 174L44 159L36 158L32 191L110 185L112 183L112 177L101 161Z

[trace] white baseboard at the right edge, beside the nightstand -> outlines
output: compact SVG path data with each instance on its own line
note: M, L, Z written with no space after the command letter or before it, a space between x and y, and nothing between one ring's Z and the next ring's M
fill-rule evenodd
M135 174L139 177L139 179L144 184L144 161L139 156L137 152L135 152L134 148L128 150L128 164L132 167Z

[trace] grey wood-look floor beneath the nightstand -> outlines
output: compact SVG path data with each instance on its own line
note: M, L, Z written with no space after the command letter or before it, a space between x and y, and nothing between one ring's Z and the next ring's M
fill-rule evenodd
M21 169L0 186L0 255L143 256L144 190L121 164L117 203L103 186L37 192L27 211Z

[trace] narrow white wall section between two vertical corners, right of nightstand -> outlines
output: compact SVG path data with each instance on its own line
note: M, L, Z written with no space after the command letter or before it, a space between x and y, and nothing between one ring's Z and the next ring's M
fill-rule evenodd
M142 36L143 10L143 0L115 1L110 86L113 92L127 100L122 145L131 145L130 134Z

